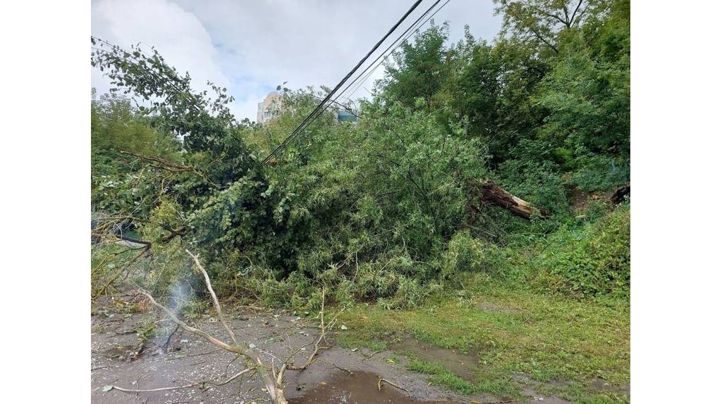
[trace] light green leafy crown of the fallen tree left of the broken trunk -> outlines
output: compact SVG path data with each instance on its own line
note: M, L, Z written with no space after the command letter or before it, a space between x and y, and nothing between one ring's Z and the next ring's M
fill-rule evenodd
M426 112L399 104L366 108L356 126L310 130L306 158L290 153L269 172L274 223L283 228L276 234L290 240L285 251L295 254L271 283L303 293L294 285L305 277L332 299L415 305L437 279L466 269L480 249L458 224L469 214L466 179L487 173L484 153L463 128L440 125ZM263 251L263 242L254 249Z

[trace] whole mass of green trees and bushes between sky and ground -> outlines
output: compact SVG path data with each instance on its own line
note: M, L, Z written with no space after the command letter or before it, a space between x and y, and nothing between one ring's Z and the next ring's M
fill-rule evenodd
M448 44L432 25L399 49L357 125L324 116L269 166L313 89L284 91L290 108L266 125L236 122L225 89L194 92L157 53L93 39L94 66L150 105L92 102L93 211L151 243L142 282L155 292L197 285L190 248L219 294L273 304L317 306L325 287L327 300L417 305L467 271L627 294L628 202L580 211L574 195L629 181L629 2L582 1L564 21L549 16L567 15L563 1L497 3L492 44L468 30ZM471 179L552 217L476 206Z

